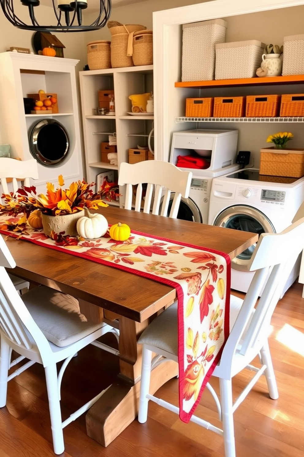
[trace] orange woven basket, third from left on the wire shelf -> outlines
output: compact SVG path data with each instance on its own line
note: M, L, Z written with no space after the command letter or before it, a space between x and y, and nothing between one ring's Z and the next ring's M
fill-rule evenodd
M248 95L246 117L276 117L280 110L280 95Z

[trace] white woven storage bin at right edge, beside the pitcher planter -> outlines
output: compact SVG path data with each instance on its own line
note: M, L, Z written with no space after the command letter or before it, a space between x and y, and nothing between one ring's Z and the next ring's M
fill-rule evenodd
M282 76L304 74L304 35L283 38Z

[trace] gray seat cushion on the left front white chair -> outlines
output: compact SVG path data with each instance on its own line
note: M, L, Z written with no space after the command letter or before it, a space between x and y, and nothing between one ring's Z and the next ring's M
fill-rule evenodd
M22 300L46 339L60 347L106 325L88 323L76 298L49 287L36 287L26 292Z

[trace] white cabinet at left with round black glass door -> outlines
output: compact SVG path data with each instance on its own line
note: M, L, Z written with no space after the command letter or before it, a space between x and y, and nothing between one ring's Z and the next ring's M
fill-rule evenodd
M38 163L39 179L33 181L37 191L46 192L46 182L57 185L63 175L65 185L83 179L80 126L77 103L75 66L78 60L46 57L33 54L0 53L0 133L2 143L11 146L11 156L22 160L32 159L29 135L42 119L60 122L68 136L68 152L56 165ZM23 98L27 94L57 94L57 114L25 114ZM57 151L48 149L56 157Z

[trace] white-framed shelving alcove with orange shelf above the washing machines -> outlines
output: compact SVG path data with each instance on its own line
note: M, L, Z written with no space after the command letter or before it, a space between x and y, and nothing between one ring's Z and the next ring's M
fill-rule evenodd
M303 128L301 123L303 123L304 117L276 117L271 119L184 117L186 98L262 95L267 94L269 84L264 86L259 84L258 87L257 85L254 87L241 87L238 81L234 80L233 87L228 87L228 85L221 87L221 82L219 81L210 81L213 87L206 87L206 82L204 84L196 82L188 87L175 85L176 82L181 80L182 24L228 18L229 16L240 16L240 21L242 21L242 15L298 5L304 5L304 0L247 0L246 2L242 0L221 0L220 5L219 1L207 1L153 13L155 158L169 160L173 132L193 128L211 128L212 125L214 125L214 128L237 128L239 130L239 150L252 151L252 145L255 144L255 150L253 150L256 156L255 165L258 165L259 149L266 144L268 135L275 133L275 131L270 130L269 124L271 123L278 123L277 128L280 129L282 128L280 123L288 122L289 125L292 123L292 132L294 133L293 146L302 147ZM241 40L242 37L240 36L239 39ZM271 79L269 78L269 80ZM290 83L284 81L282 85L277 82L276 90L278 92L276 93L303 93L303 83L304 77L302 81ZM274 92L271 91L270 93ZM253 124L258 128L253 128Z

